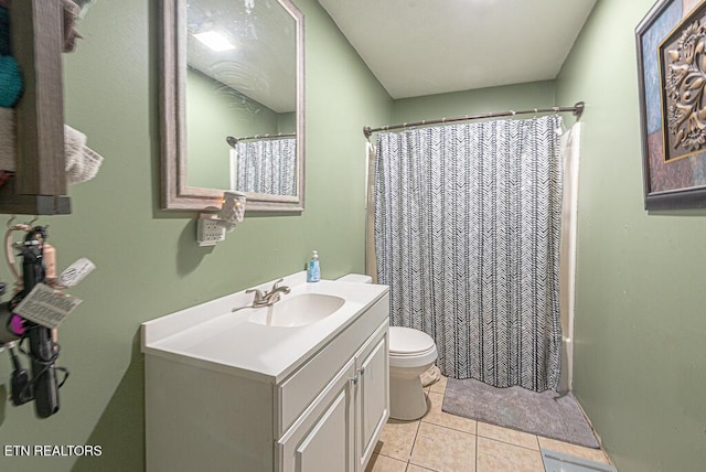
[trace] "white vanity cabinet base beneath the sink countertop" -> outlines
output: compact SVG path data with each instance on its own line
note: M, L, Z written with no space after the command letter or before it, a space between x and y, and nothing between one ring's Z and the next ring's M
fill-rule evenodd
M362 472L389 416L388 307L378 291L281 375L143 347L147 470Z

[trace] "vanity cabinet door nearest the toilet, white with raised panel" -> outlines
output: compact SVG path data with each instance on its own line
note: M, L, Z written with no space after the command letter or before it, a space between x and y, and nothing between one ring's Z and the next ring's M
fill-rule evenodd
M389 417L389 329L387 321L359 351L356 367L356 461L365 470L379 433Z

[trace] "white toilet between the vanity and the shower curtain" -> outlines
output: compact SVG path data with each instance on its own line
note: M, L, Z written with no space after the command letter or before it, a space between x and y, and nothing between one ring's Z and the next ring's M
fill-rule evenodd
M370 276L349 273L343 282L371 283ZM427 333L410 328L389 326L389 417L419 419L427 412L421 374L437 360L437 346Z

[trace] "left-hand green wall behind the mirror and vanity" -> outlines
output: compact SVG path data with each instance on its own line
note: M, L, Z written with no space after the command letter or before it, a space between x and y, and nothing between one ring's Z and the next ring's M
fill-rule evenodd
M79 24L85 39L64 56L66 121L105 161L69 187L72 215L40 223L51 224L61 268L85 256L97 269L68 291L84 302L60 333L72 374L57 415L8 404L0 356L0 444L99 444L103 455L0 455L0 470L142 470L140 323L301 270L311 249L324 278L363 270L361 129L388 122L392 100L319 4L296 2L307 24L307 207L248 214L214 248L196 245L195 213L159 210L157 2L100 0Z

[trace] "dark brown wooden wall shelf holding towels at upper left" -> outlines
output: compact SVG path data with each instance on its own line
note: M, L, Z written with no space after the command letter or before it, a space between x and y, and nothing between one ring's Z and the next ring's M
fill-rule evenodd
M0 189L0 213L68 214L62 2L13 1L10 34L12 55L24 78L24 92L15 106L17 171Z

